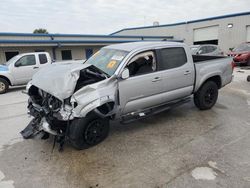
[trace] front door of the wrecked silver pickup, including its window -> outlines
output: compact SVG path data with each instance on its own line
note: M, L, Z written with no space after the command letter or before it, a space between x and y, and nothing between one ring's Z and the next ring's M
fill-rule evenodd
M161 75L154 51L139 53L127 64L129 78L118 83L122 114L138 112L161 103Z

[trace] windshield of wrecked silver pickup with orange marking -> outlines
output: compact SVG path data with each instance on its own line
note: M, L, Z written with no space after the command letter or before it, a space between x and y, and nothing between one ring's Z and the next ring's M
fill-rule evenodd
M86 63L94 65L111 76L127 54L126 51L103 48L89 58Z

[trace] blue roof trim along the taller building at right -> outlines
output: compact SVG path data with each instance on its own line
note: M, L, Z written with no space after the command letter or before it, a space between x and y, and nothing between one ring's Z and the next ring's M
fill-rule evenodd
M114 34L120 33L122 31L129 31L129 30L135 30L135 29L148 29L148 28L160 28L160 27L177 26L177 25L183 25L183 24L189 24L189 23L196 23L196 22L217 20L217 19L230 18L230 17L236 17L236 16L245 16L245 15L250 15L250 12L227 14L227 15L223 15L223 16L214 16L214 17L209 17L209 18L191 20L191 21L186 21L186 22L177 22L177 23L172 23L172 24L163 24L163 25L158 25L158 26L143 26L143 27L124 28L124 29L121 29L121 30L116 31L114 33L111 33L110 35L114 36Z

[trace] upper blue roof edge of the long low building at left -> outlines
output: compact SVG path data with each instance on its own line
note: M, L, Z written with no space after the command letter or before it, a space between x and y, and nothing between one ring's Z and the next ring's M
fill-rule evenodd
M2 32L0 36L30 36L30 37L88 37L88 38L168 38L173 39L173 36L112 36L112 35L90 35L90 34L43 34L43 33L9 33Z

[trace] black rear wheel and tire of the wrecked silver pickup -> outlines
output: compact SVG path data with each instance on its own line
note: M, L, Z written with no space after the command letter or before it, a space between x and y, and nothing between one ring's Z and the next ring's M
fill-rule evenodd
M205 82L194 94L194 104L200 110L211 109L218 99L218 86L213 81Z

